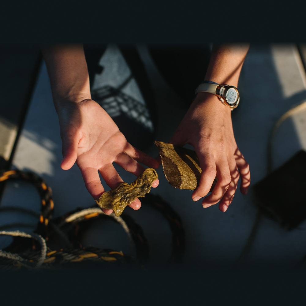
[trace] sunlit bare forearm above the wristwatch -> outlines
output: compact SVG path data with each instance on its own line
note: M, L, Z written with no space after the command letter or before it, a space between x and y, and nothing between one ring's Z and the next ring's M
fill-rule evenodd
M237 87L249 44L214 45L205 80Z

